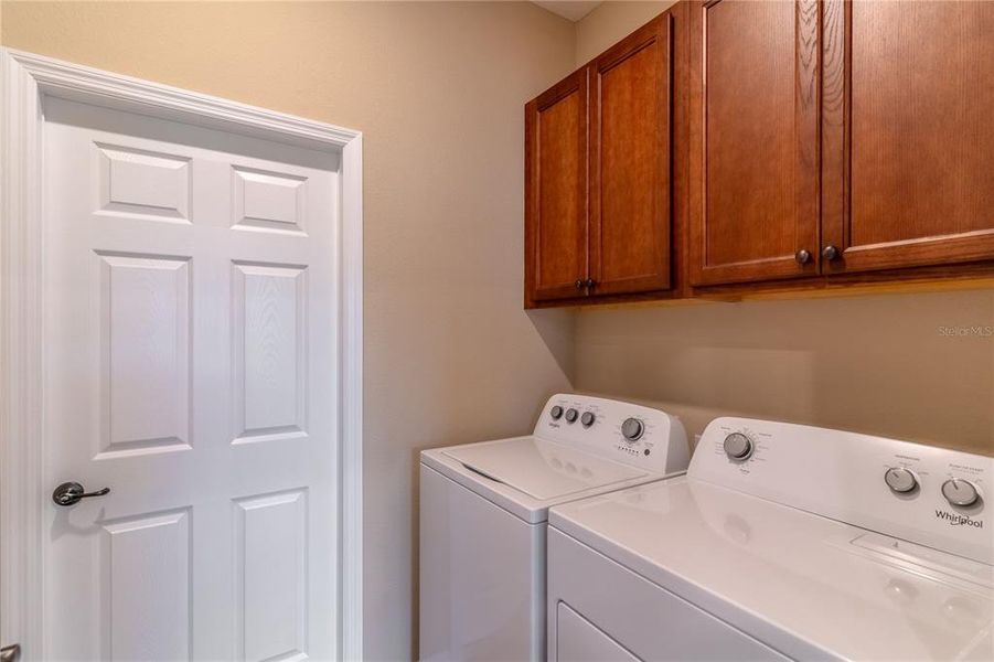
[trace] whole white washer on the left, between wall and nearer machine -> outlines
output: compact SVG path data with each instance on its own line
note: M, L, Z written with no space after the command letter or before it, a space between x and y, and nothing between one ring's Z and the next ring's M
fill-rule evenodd
M676 418L580 395L549 398L532 436L423 451L420 659L544 659L548 508L688 459Z

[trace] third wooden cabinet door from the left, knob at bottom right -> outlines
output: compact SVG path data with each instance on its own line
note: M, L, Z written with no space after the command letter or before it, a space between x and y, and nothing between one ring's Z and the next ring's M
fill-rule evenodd
M817 0L691 8L692 285L817 271L819 17Z

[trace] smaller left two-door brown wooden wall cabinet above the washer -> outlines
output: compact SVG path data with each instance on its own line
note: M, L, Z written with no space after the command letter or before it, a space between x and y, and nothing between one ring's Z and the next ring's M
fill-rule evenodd
M661 14L525 106L526 306L673 290L685 11Z

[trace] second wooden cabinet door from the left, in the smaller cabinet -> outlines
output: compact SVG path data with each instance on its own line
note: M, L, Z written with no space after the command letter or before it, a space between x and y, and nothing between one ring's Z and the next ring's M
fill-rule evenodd
M630 34L590 68L591 293L667 289L673 17Z

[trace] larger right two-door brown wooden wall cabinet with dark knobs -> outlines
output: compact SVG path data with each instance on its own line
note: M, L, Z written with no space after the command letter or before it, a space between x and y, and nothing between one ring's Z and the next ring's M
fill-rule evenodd
M994 259L992 79L991 2L694 2L691 284Z

